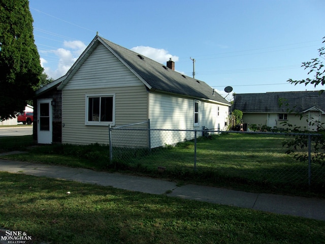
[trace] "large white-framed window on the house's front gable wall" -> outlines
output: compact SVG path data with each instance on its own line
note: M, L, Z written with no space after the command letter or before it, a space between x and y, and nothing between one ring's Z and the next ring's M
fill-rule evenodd
M115 94L87 94L85 125L115 125Z

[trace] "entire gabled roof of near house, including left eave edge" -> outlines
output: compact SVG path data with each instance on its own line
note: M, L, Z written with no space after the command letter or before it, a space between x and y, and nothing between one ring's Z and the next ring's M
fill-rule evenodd
M207 99L230 105L207 83L182 75L166 65L155 62L142 54L119 46L104 38L96 36L84 53L79 57L77 62L64 76L66 79L60 84L62 89L70 80L72 75L83 64L84 60L90 55L92 50L102 43L109 49L129 70L131 70L145 85L153 92L164 92L170 94L179 94L193 98Z

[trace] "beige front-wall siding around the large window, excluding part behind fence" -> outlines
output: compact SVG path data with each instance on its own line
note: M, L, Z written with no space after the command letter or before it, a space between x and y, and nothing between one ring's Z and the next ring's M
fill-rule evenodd
M144 86L134 86L121 90L119 87L91 90L62 91L62 143L69 144L108 144L108 126L85 125L85 96L89 93L115 94L115 124L125 125L145 121L147 115L147 92Z

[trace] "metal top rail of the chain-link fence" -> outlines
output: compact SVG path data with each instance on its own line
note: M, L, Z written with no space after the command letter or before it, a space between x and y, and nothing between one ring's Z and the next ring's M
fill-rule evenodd
M141 122L133 125L144 124ZM188 131L188 132L217 132L217 133L238 133L238 134L258 134L258 135L289 135L289 136L321 136L322 134L315 133L291 133L291 132L263 132L263 131L220 131L220 130L185 130L185 129L136 129L136 128L125 128L127 126L112 127L112 130L129 130L129 131ZM123 129L121 129L123 128Z

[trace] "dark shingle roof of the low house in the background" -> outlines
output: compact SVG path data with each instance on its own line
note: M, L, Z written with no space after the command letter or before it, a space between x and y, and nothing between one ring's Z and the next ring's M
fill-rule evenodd
M305 112L310 109L325 111L325 93L274 92L236 94L233 109L251 113Z

